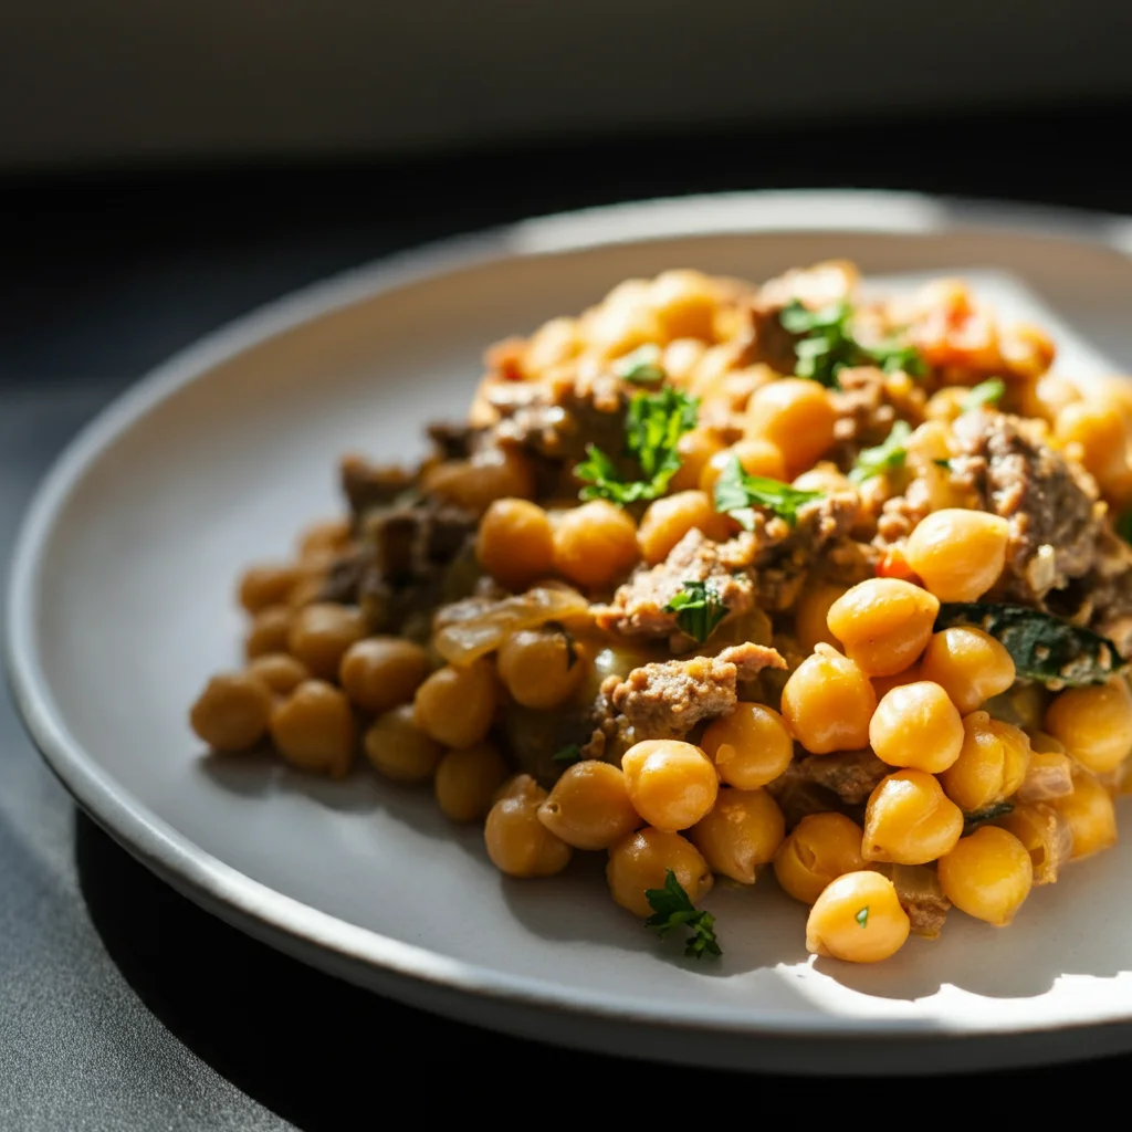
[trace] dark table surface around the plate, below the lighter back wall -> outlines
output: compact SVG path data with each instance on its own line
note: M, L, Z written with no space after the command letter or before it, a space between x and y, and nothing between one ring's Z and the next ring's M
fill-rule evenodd
M1108 165L1130 115L994 111L398 164L0 181L0 557L84 421L172 351L312 278L526 215L693 191L916 188L1132 213ZM352 1127L378 1118L383 1084L423 1065L468 1110L506 1081L546 1080L549 1063L641 1098L751 1087L481 1032L254 943L79 814L0 700L0 1127ZM1058 1091L1129 1067L1057 1069ZM1001 1083L1026 1091L1037 1072Z

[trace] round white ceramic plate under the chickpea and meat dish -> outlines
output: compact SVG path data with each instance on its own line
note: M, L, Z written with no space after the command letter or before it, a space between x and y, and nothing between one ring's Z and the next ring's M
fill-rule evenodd
M1132 362L1132 225L883 194L658 201L518 224L305 291L162 367L95 421L16 554L9 660L78 800L180 891L254 935L426 1009L548 1040L796 1071L933 1071L1132 1047L1132 839L996 931L953 915L874 968L814 962L772 881L709 898L695 964L609 901L600 861L500 878L428 792L207 761L186 709L234 663L232 583L338 507L343 449L419 451L484 344L676 265L769 276L977 275L1053 325L1067 369ZM139 910L144 915L144 909ZM284 993L285 993L285 988ZM962 1041L954 1040L963 1038ZM882 1058L878 1061L877 1058Z

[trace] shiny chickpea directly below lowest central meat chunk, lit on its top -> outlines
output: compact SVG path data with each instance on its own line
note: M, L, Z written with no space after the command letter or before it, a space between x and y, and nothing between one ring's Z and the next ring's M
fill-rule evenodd
M711 760L691 743L649 739L621 755L633 808L658 830L686 830L715 804L719 778Z

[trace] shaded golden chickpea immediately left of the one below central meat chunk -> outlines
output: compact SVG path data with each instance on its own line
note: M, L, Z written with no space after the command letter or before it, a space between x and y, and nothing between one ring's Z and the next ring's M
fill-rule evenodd
M566 767L539 821L575 849L608 849L641 824L624 771L594 758Z

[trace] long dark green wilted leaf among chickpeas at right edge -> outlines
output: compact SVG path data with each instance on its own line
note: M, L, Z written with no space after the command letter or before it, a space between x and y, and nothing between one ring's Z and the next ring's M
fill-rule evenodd
M1001 641L1021 679L1050 688L1104 684L1124 666L1107 637L1028 606L947 602L940 607L935 627L952 625L974 625Z

